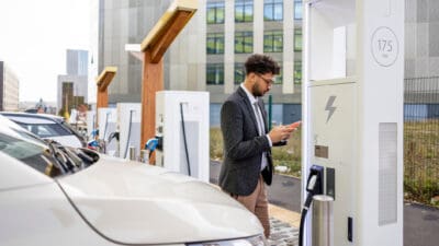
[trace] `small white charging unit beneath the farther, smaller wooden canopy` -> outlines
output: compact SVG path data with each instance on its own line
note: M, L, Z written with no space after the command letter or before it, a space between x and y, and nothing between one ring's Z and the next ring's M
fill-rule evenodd
M115 156L117 153L117 141L109 142L109 137L116 131L117 110L111 107L98 108L99 139L105 142L105 154Z

